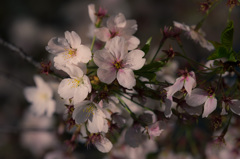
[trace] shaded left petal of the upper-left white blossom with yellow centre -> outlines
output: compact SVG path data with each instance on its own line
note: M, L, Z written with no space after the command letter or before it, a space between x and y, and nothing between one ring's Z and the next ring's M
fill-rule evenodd
M46 50L52 54L59 54L66 52L66 49L70 48L67 40L65 38L52 38L46 46Z

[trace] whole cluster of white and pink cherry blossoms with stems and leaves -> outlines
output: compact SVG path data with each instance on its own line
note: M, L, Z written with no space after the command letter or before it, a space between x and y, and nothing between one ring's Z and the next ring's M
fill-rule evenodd
M154 56L150 62L146 55L151 39L140 49L141 42L134 36L136 20L127 20L123 13L108 15L106 9L96 10L94 4L88 6L88 12L94 25L91 47L75 31L51 38L46 50L54 56L54 69L65 76L53 84L36 75L36 87L24 90L34 115L62 116L64 131L72 135L66 142L72 151L84 142L100 152L111 152L109 158L131 158L131 153L136 158L145 158L154 152L154 148L146 147L156 147L155 138L161 139L161 134L171 130L166 126L171 120L225 116L232 112L240 115L237 96L235 99L224 93L231 87L228 76L235 75L232 65L229 66L232 63L227 63L230 56L215 58L218 56L215 55L214 61L206 61L205 65L195 62L200 66L198 70L192 67L193 71L188 71L178 69L174 57L189 58L170 47L163 50L166 56L159 59ZM185 32L217 54L220 44L205 39L200 24L187 26L174 21L173 27L162 30L161 42L172 39L182 46L180 34ZM96 40L101 48L94 45ZM238 59L232 62L239 67ZM51 74L49 69L50 66L45 70L47 74ZM205 74L211 75L208 77L211 81L204 79ZM117 135L118 140L114 141Z

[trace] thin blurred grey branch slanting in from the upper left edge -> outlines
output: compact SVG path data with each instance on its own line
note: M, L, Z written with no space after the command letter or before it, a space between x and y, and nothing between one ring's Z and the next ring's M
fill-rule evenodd
M28 61L30 64L32 64L36 68L41 69L40 64L35 60L33 60L32 57L28 56L27 53L25 53L21 48L15 46L14 44L6 42L2 38L0 38L0 45L5 46L9 50L18 53L24 60Z

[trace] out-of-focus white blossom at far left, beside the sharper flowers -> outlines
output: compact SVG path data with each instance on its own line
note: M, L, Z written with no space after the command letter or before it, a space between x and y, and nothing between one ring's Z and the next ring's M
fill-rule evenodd
M40 76L35 75L34 81L37 87L24 89L24 95L27 101L31 103L30 110L39 116L45 113L47 116L52 116L56 107L55 101L52 99L52 89Z

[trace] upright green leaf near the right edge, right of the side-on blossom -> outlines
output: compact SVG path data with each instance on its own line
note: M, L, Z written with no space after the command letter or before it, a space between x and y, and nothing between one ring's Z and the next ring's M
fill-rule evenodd
M233 21L230 21L221 34L221 43L228 49L232 48L233 45L233 32Z

